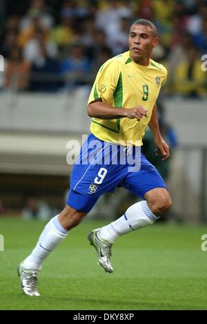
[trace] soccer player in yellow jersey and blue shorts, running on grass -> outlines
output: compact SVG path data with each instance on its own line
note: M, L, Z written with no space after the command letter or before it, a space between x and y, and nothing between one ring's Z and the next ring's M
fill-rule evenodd
M66 207L48 222L32 253L18 266L25 294L39 296L37 276L43 260L106 191L121 186L143 199L132 204L124 216L88 235L97 250L99 265L107 272L113 271L112 243L121 235L152 224L170 208L164 180L140 152L141 139L149 126L162 160L170 155L157 122L156 100L167 75L164 66L150 59L157 43L155 25L139 19L130 28L129 51L101 66L88 100L91 134L81 147L79 162L73 166ZM88 161L88 155L93 153L94 158ZM101 155L107 156L109 162L101 160ZM128 157L134 164L139 160L140 166L133 169Z

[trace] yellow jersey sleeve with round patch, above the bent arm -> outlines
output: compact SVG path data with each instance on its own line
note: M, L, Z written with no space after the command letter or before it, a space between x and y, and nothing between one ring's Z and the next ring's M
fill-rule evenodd
M88 104L101 98L102 102L112 105L113 94L117 86L120 71L119 63L115 60L106 61L106 63L101 66L92 86Z

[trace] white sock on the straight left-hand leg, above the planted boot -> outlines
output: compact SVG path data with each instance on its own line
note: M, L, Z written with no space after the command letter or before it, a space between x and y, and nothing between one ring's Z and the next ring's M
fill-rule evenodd
M26 269L40 270L43 260L66 238L68 231L61 226L58 215L52 218L43 229L32 253L23 260Z

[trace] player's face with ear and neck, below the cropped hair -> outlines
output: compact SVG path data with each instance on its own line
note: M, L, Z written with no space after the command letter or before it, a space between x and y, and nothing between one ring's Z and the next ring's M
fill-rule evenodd
M128 46L130 58L139 64L148 65L152 49L157 45L158 39L150 26L132 25L130 28Z

